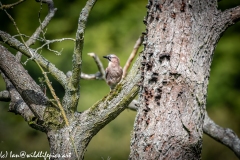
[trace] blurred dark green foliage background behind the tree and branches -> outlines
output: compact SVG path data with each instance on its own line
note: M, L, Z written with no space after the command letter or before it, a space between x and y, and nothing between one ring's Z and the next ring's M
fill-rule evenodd
M2 0L3 4L15 2ZM86 1L55 0L58 8L46 30L47 39L75 38L77 21L81 8ZM85 32L85 46L83 50L83 71L95 73L97 67L89 52L95 52L107 66L103 55L115 53L121 59L123 66L130 54L135 41L145 30L142 22L146 16L146 0L101 0L96 3L90 14ZM222 0L219 9L225 10L240 5L240 0ZM39 25L38 14L40 3L28 0L8 12L15 19L20 32L30 36ZM41 19L47 13L46 5L40 12ZM13 23L3 11L0 11L0 30L11 35L17 31ZM41 45L37 42L33 48ZM74 43L64 41L51 45L51 48L60 51L61 56L43 49L42 54L65 73L71 70L71 58ZM10 49L13 53L15 50ZM140 49L142 50L142 48ZM26 58L23 57L22 62ZM30 75L39 82L43 77L35 63L29 61L25 65ZM59 97L62 97L63 88L50 77L54 89ZM0 90L5 89L5 84L0 79ZM79 111L89 108L97 100L109 92L108 86L103 81L81 80L81 98ZM210 117L222 127L233 129L240 136L240 23L236 23L224 33L220 39L214 54L211 67L210 83L208 88L207 110ZM135 112L125 110L114 121L103 128L90 142L85 154L86 160L127 159L129 155L130 137L135 118ZM0 152L12 151L19 153L26 151L48 151L47 137L44 133L36 131L28 126L21 116L8 112L8 103L0 102ZM204 135L203 160L237 160L234 153L227 147Z

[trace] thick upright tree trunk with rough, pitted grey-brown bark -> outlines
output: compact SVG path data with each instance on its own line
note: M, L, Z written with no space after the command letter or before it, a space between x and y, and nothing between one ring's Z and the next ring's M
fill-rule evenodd
M200 159L217 1L149 0L129 159Z

